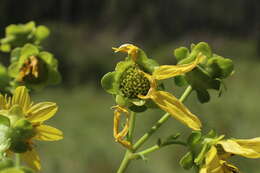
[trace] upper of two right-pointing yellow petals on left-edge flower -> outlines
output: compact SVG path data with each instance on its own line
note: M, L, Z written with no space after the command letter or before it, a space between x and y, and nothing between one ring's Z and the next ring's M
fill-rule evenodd
M58 110L58 106L53 102L41 102L33 105L27 111L27 119L32 123L43 122L51 118Z

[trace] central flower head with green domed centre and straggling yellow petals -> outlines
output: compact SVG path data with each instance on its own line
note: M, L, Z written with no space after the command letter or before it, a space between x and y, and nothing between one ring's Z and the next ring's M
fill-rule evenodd
M155 60L148 58L143 50L132 44L113 49L115 52L125 52L128 56L117 64L115 71L107 73L101 83L108 93L115 95L118 106L124 109L124 112L128 111L126 108L141 112L150 107L159 107L193 130L200 130L200 120L172 94L161 91L161 85L157 81L193 70L203 56L199 54L188 64L159 66ZM115 115L117 114L118 112Z

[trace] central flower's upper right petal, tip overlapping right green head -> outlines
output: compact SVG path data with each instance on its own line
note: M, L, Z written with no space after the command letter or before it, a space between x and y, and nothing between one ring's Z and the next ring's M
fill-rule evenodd
M155 71L153 72L153 77L156 80L163 80L168 79L171 77L175 77L178 75L182 75L184 73L187 73L194 69L196 65L201 61L202 56L201 54L198 55L198 57L189 64L182 64L182 65L162 65L159 66Z

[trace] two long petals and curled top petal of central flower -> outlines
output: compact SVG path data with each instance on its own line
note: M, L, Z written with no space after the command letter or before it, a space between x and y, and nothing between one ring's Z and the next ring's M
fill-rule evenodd
M132 60L135 62L138 58L139 48L131 45L124 44L119 48L113 48L116 52L127 52ZM168 112L172 117L176 118L183 124L187 125L193 130L201 129L200 120L192 114L184 104L182 104L175 96L165 91L157 90L157 80L163 80L171 77L175 77L191 71L201 61L203 56L198 55L195 61L190 64L184 65L164 65L160 66L153 72L152 75L147 74L140 70L150 82L150 89L148 93L144 95L138 95L141 99L153 100L162 110Z

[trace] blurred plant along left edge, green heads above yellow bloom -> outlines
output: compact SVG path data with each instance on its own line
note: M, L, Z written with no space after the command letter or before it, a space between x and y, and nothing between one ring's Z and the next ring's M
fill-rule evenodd
M10 57L7 66L0 64L0 173L41 170L35 141L63 138L62 131L45 125L57 112L56 103L35 104L29 95L61 81L57 59L41 45L49 34L46 26L28 22L7 26L0 39L0 51Z

